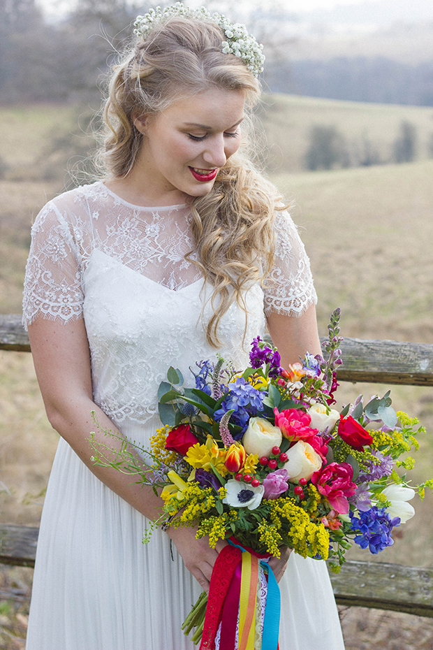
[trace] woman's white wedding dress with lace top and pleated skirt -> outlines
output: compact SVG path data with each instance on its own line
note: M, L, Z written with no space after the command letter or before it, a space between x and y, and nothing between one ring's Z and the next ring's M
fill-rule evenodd
M247 336L265 313L300 314L316 298L290 217L277 219L270 289L247 292ZM84 317L94 400L124 435L146 444L159 425L156 389L170 365L215 359L200 314L210 295L185 261L185 205L140 208L101 182L50 201L32 229L24 322ZM206 304L204 318L210 313ZM242 368L244 315L223 317L222 352ZM89 447L89 455L91 449ZM146 519L110 491L61 439L41 520L27 650L191 650L179 631L200 593L168 536L142 544ZM281 650L341 650L323 562L291 554L281 583Z

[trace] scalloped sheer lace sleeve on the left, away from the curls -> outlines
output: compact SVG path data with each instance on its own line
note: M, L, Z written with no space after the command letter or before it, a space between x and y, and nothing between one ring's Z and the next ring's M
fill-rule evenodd
M24 327L38 316L67 323L82 315L78 259L70 226L57 206L47 203L31 229L22 305Z

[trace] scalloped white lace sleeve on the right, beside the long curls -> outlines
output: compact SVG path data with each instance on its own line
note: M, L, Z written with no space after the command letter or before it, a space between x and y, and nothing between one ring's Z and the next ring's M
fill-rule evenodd
M265 281L265 314L300 316L317 302L309 259L287 212L277 212L275 230L274 268Z

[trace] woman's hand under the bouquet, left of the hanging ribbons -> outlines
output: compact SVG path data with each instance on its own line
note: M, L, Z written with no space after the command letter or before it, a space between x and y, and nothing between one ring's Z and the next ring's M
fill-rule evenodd
M186 568L196 578L204 591L208 592L214 563L217 560L219 551L227 546L228 542L218 540L217 546L211 549L209 537L200 537L200 540L197 540L196 530L196 528L190 528L189 526L170 527L167 530L167 535L175 543L175 547L182 556Z

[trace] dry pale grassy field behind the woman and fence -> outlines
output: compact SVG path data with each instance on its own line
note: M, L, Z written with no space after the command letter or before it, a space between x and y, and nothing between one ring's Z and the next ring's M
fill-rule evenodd
M321 334L330 312L339 306L343 335L432 342L433 161L315 173L300 173L296 162L311 123L337 121L353 134L367 124L379 141L397 129L404 115L413 122L418 119L427 134L433 128L432 109L291 97L277 98L273 106L278 110L272 108L263 123L288 163L272 171L272 178L293 204L291 211L311 258ZM0 312L21 310L30 226L63 182L63 168L57 180L44 180L36 161L43 159L45 147L50 148L50 138L58 138L62 129L66 133L75 129L73 116L78 113L68 107L0 109L1 155L9 166L0 180ZM284 138L278 137L281 132ZM276 146L271 144L271 153ZM293 170L288 172L290 161ZM340 389L340 402L353 400L360 392L370 396L386 389L346 384ZM429 475L433 389L394 387L392 393L395 405L419 417L430 432L413 472L415 479ZM1 521L37 525L58 436L47 422L30 354L0 352L0 413L0 479L9 491L0 494ZM431 495L416 503L416 517L396 531L394 547L368 559L432 565L432 503ZM365 559L356 549L351 556ZM21 590L25 598L30 584L31 570L0 571L0 591ZM0 598L0 649L24 647L20 638L25 635L27 611L25 600ZM433 621L358 609L344 610L342 618L347 650L432 648Z

